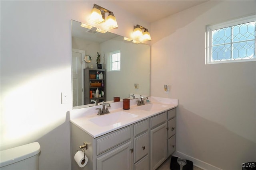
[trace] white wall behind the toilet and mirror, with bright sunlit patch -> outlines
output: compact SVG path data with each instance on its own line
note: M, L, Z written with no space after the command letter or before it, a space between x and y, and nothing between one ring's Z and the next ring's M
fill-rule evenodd
M69 170L71 20L87 23L96 3L114 12L119 27L113 33L130 37L133 25L149 24L107 1L0 3L1 150L38 141L40 170Z

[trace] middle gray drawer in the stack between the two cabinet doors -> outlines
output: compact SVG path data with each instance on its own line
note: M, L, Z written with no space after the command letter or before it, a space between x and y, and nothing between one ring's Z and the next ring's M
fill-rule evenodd
M140 160L141 158L143 158L148 154L148 149L149 149L148 132L134 139L134 149L135 149L135 152L134 152L135 162L137 162L138 160Z

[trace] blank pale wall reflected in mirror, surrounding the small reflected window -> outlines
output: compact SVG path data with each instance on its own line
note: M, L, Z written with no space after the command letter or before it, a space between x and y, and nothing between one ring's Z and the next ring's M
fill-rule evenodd
M121 70L107 72L107 101L118 96L129 98L128 94L149 96L150 91L150 46L123 41L116 37L101 43L101 54L105 54L106 66L110 52L121 51ZM103 55L102 55L103 56ZM134 84L139 88L135 89ZM110 85L111 86L108 86Z

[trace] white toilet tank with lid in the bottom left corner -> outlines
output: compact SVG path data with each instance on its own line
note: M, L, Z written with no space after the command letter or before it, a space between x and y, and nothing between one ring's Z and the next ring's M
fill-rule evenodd
M38 170L38 142L22 145L12 149L2 150L0 153L1 170Z

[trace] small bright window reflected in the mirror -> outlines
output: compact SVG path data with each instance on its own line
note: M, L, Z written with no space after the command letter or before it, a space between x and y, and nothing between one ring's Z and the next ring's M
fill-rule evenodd
M118 71L121 70L121 52L113 51L109 55L109 71Z

